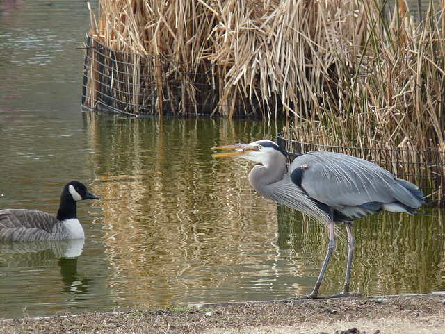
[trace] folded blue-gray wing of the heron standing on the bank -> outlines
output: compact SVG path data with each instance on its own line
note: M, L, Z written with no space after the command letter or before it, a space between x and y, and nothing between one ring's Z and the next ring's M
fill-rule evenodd
M303 154L293 161L290 172L292 181L310 197L332 208L395 201L418 208L421 203L386 169L341 153Z

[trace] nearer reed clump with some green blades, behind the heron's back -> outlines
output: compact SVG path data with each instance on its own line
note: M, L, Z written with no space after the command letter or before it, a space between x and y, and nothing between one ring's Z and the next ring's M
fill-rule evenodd
M390 12L378 1L363 4L360 24L353 25L360 40L339 57L334 74L325 77L320 103L297 119L291 137L377 162L443 205L443 8L431 3L423 22L415 24L404 1ZM335 40L345 46L342 37Z

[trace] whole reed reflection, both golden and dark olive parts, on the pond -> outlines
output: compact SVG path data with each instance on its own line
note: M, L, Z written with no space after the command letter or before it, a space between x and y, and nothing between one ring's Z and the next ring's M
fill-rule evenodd
M327 249L325 228L254 192L250 162L211 158L211 147L219 144L274 139L273 127L267 132L261 122L92 113L86 124L111 265L106 285L120 305L159 308L312 291ZM443 289L438 215L357 222L353 291ZM322 293L341 290L345 267L343 238Z

